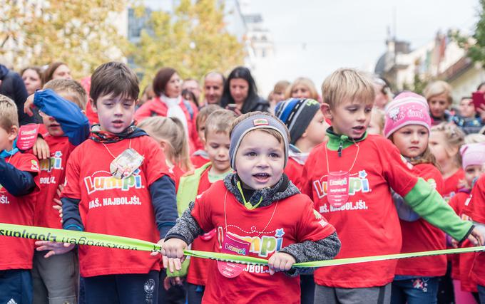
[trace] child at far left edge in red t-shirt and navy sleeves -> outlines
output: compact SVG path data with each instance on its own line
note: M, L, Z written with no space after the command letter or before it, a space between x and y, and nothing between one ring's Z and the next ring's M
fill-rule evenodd
M13 100L0 95L0 222L34 225L39 162L16 147L19 116ZM0 303L31 303L34 242L0 230Z

